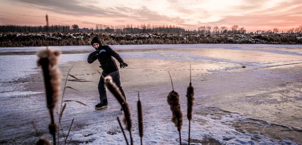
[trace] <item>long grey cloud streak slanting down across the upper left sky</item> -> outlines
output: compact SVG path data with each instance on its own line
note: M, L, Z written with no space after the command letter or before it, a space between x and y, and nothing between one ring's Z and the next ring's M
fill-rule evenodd
M100 17L100 18L127 18L134 21L150 22L150 23L184 23L185 20L177 17L168 17L158 12L149 10L146 6L134 9L129 7L103 8L95 5L83 4L77 0L70 1L32 1L32 0L14 0L41 10L51 11L57 14L72 15L77 17ZM181 9L179 7L178 9ZM186 10L188 11L188 10ZM88 24L88 23L87 23ZM92 23L95 24L95 23Z

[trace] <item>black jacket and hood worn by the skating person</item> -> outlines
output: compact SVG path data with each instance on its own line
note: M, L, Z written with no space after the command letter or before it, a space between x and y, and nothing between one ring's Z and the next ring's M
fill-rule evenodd
M124 61L120 57L120 55L117 54L114 50L112 50L108 45L102 45L99 37L94 37L91 41L92 46L93 43L98 43L100 45L96 50L100 50L101 52L97 56L93 56L92 53L90 53L87 58L88 63L93 63L95 60L98 59L101 64L100 67L103 69L104 73L108 74L117 71L118 67L112 56L117 59L119 63L123 63Z

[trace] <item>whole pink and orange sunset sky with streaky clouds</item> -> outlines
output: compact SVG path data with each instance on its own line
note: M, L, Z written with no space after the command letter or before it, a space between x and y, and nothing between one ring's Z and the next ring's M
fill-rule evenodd
M0 25L77 24L95 27L171 24L245 27L248 32L302 25L302 0L1 0Z

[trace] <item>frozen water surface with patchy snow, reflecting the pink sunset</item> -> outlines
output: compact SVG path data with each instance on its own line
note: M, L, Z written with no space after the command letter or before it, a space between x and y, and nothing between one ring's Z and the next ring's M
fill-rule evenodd
M302 144L301 45L111 47L129 65L120 69L120 74L130 104L134 144L140 144L138 91L143 106L143 144L179 144L166 103L166 96L172 90L167 70L172 75L175 91L181 96L184 114L181 135L182 143L187 144L185 93L189 84L189 64L192 65L196 98L191 121L192 144ZM40 48L44 47L0 48L1 144L33 144L39 136L51 140L43 76L34 55ZM86 61L93 48L50 48L63 52L59 57L62 79L73 66L70 74L91 81L67 82L67 86L79 91L67 90L64 100L79 100L88 105L67 102L62 120L65 135L75 118L67 144L126 144L116 120L123 115L110 92L107 92L108 108L94 109L98 103L99 64ZM126 135L130 141L127 131ZM63 144L63 140L60 142Z

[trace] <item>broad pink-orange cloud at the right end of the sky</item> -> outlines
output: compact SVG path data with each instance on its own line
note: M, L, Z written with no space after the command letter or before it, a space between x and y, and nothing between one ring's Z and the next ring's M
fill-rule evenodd
M241 16L223 16L219 21L208 22L213 26L232 26L234 24L239 27L249 27L250 29L261 29L261 27L296 27L302 21L302 3L281 2L272 7L267 7L256 11L255 5L262 1L253 1L250 7L245 7L246 11L254 11L252 13L242 14Z

